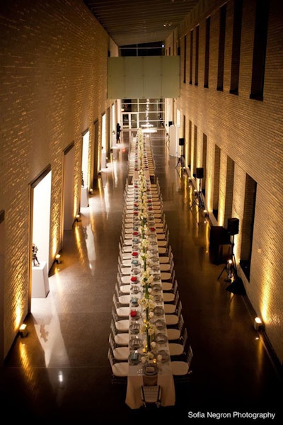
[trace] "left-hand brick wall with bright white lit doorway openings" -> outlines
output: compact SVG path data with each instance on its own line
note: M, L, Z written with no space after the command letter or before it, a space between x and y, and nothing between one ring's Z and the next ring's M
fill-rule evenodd
M74 142L75 210L82 133L107 111L115 45L82 1L1 3L0 210L5 211L4 356L28 312L29 183L51 164L50 264L60 249L64 149ZM116 50L117 53L117 50Z

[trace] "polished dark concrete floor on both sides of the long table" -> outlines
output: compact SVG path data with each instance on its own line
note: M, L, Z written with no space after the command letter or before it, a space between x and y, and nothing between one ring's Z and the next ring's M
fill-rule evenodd
M28 336L16 339L1 369L2 417L40 424L152 423L158 418L187 424L230 423L229 416L240 412L239 423L279 420L280 371L264 335L253 328L249 302L227 290L226 272L218 279L224 264L209 259L209 223L202 211L190 210L192 184L175 168L163 132L151 135L151 144L194 353L190 382L176 387L175 407L150 412L129 409L126 388L111 382L108 336L129 147L124 132L89 207L81 209L81 221L64 232L62 263L50 272L47 297L32 300ZM209 418L209 412L222 418ZM247 412L276 416L247 419Z

